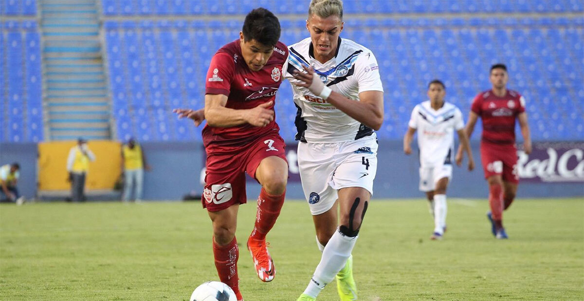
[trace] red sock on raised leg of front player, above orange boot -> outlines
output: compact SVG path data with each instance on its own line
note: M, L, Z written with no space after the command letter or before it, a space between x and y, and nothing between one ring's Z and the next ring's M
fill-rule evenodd
M276 224L278 215L280 215L285 196L286 192L280 196L273 196L262 188L258 197L258 214L256 214L256 222L251 235L253 239L266 239L267 232L270 232L274 224Z

